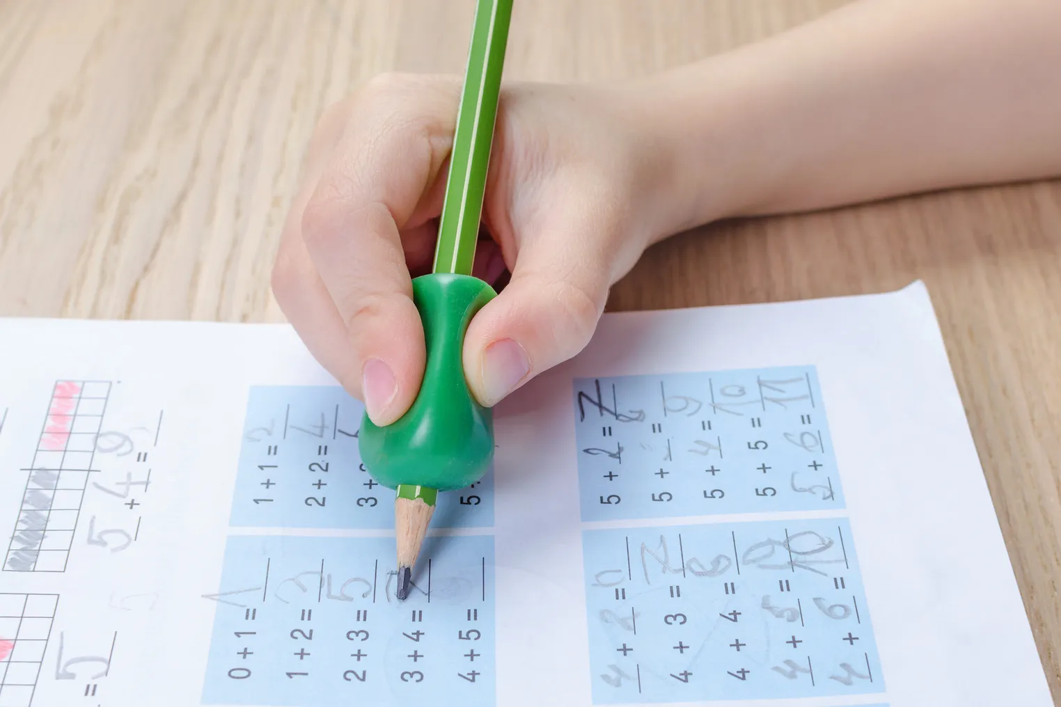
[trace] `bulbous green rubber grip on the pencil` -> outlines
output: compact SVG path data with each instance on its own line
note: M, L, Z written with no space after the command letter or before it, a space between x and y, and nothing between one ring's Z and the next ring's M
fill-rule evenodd
M413 280L428 349L420 392L408 411L385 427L366 414L359 435L361 460L381 484L454 491L489 469L493 419L468 389L462 352L471 318L495 296L490 285L466 275Z

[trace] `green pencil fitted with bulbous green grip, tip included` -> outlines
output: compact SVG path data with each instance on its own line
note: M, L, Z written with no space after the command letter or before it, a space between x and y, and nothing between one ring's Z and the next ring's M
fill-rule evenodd
M490 411L468 390L462 349L471 317L494 296L471 269L511 12L511 0L479 0L475 8L433 275L413 281L428 349L420 392L394 424L377 427L367 416L362 422L362 460L397 491L398 599L408 596L438 492L475 483L493 457ZM473 498L479 502L472 494L462 501L471 506Z

